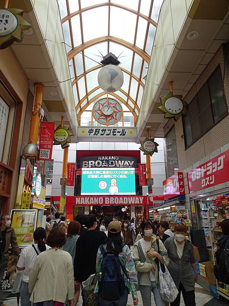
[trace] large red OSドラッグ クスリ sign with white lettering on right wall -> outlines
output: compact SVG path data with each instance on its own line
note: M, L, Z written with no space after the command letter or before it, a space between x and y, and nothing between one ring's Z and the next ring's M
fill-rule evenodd
M229 181L229 150L188 172L189 192Z

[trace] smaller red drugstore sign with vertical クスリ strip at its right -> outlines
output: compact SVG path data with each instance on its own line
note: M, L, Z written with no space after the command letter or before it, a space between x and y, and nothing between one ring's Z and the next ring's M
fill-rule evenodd
M184 195L184 176L183 172L177 172L163 181L164 199L170 199L175 196Z

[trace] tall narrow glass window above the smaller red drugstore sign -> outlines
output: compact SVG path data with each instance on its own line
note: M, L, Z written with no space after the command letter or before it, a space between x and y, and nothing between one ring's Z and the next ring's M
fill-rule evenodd
M164 155L166 177L169 177L179 170L175 127L164 138Z

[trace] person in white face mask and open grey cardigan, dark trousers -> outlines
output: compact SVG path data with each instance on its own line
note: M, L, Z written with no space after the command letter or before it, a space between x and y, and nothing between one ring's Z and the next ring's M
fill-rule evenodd
M168 271L179 291L176 300L170 306L180 306L181 292L185 306L195 306L195 282L198 276L193 253L193 246L185 237L187 227L183 223L175 225L175 236L168 238L164 246L170 259ZM192 270L194 271L194 277Z

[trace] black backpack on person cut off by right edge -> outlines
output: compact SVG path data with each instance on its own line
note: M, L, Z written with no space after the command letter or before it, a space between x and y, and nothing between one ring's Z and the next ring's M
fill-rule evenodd
M218 282L229 285L229 239L216 251L214 274Z

